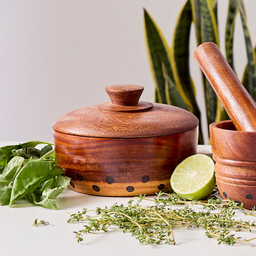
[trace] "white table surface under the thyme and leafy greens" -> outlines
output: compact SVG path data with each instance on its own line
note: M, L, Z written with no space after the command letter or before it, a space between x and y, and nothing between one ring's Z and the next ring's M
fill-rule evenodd
M0 147L16 142L0 142ZM201 146L211 150L210 146ZM155 196L148 196L154 198ZM84 207L126 204L130 197L104 197L77 193L66 188L56 199L59 210L49 210L21 201L15 207L0 206L0 250L1 255L250 255L256 252L256 239L251 245L243 243L227 246L205 236L203 229L174 229L176 245L141 245L138 240L123 233L118 228L108 232L84 235L84 241L77 243L73 231L83 228L83 223L67 223L70 213L77 213ZM141 202L143 205L148 203ZM199 206L191 206L200 210ZM177 208L177 206L172 206ZM48 221L50 224L34 227L34 220ZM244 216L237 211L234 218L256 221L255 217ZM241 233L241 234L240 234ZM243 238L256 237L256 230L236 233Z

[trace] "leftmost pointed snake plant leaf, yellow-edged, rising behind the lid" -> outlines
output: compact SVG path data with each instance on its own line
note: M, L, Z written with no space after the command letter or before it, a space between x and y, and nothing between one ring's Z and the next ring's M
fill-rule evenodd
M151 73L156 85L156 102L167 104L162 63L164 63L164 66L166 67L168 76L173 80L172 68L170 64L171 50L168 47L160 28L158 28L156 22L145 9L144 32Z

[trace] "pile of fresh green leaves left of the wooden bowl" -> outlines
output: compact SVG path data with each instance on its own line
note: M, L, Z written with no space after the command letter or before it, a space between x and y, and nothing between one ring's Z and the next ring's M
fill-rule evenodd
M38 144L47 144L41 150ZM58 166L52 144L28 141L0 148L0 205L11 207L15 200L57 210L56 200L70 178Z

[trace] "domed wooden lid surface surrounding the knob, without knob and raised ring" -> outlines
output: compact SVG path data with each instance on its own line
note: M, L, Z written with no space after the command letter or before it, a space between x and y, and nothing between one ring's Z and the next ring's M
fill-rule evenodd
M150 110L135 113L80 108L58 118L53 129L87 137L138 138L185 132L198 123L196 116L182 108L154 103Z

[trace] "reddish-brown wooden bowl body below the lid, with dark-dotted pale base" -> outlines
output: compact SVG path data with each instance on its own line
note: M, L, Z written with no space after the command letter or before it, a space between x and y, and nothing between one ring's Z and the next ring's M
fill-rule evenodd
M177 164L196 154L198 126L150 138L92 138L54 130L53 137L71 189L101 196L150 195L169 188Z

